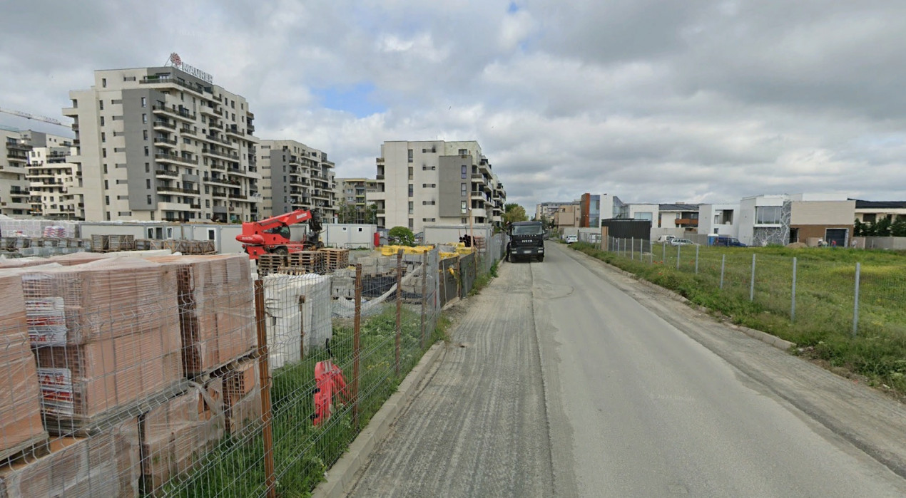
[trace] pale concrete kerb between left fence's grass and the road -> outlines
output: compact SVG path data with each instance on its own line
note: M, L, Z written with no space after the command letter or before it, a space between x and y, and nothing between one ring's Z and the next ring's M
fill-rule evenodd
M412 401L419 384L430 371L431 367L446 350L446 343L438 341L432 345L428 352L419 360L409 375L400 382L397 391L390 395L387 401L371 417L368 426L362 429L359 436L352 441L345 453L337 460L324 475L325 480L318 484L312 492L314 497L339 497L349 493L352 484L355 484L355 475L361 467L368 462L371 452L381 443L390 432L390 426L400 416L403 408Z

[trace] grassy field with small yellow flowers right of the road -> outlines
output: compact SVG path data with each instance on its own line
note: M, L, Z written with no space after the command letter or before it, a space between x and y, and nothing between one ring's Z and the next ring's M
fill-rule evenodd
M795 342L795 352L856 372L874 385L906 393L906 260L889 251L848 249L677 249L654 245L633 259L572 244L573 249L657 283L730 321ZM755 300L749 301L752 254ZM791 321L793 257L797 259L795 321ZM726 258L723 289L721 263ZM861 263L858 334L853 336L855 263Z

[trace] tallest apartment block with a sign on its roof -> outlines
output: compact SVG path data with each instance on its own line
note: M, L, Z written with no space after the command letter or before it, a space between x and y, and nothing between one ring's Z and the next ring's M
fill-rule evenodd
M171 56L171 59L173 57ZM259 215L255 115L246 99L183 65L94 72L70 91L70 158L85 219L249 221Z

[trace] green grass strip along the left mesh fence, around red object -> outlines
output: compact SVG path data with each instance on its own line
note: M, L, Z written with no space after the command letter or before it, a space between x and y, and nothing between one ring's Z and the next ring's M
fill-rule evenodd
M448 340L449 321L441 315L422 338L419 312L403 308L400 333L400 369L395 369L396 307L363 319L361 325L360 424L367 426L384 401L437 340ZM430 327L430 320L426 327ZM352 383L352 321L334 323L331 352L347 382ZM324 473L340 458L359 430L352 424L352 406L338 397L335 413L322 426L313 426L314 365L332 359L326 350L277 369L273 376L274 461L280 496L305 496L323 481ZM228 490L228 491L227 491ZM203 464L181 483L171 482L166 495L259 496L265 492L264 443L260 430L246 438L226 437L203 458Z

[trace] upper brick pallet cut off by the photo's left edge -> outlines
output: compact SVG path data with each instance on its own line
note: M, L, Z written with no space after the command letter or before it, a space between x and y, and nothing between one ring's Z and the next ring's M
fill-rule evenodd
M47 439L41 388L29 346L22 282L0 276L0 460Z

